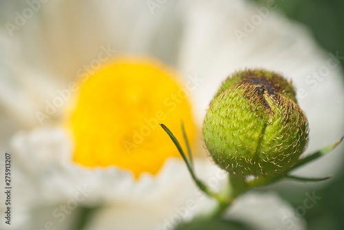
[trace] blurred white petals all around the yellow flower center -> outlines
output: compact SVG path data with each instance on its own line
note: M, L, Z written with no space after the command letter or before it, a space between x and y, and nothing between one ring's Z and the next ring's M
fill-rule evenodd
M307 94L299 96L299 103L310 122L308 151L343 135L344 86L340 67L332 68L314 83L313 73L321 72L330 56L314 43L306 28L281 16L278 5L277 10L270 10L255 30L239 41L234 31L243 31L244 20L259 15L255 5L235 0L160 2L163 2L160 8L152 13L147 1L47 1L41 3L39 10L13 36L4 25L14 23L14 12L22 12L28 3L0 3L3 54L0 56L0 150L14 151L15 166L20 169L16 180L17 186L23 189L14 190L17 224L25 224L30 219L26 209L39 209L42 205L58 207L73 196L77 185L83 186L85 182L94 190L87 199L88 205L100 200L114 202L98 213L87 229L158 228L164 218L173 216L175 207L182 207L188 198L196 196L191 179L179 161L166 163L158 178L145 176L137 184L129 173L118 169L87 171L75 167L69 162L72 144L56 128L63 109L45 123L54 125L53 128L40 127L34 113L44 110L45 100L51 101L57 89L76 79L78 70L96 59L102 47L116 50L114 57L153 56L175 68L185 79L190 76L202 79L190 92L199 125L213 94L228 74L245 67L266 67L283 73L298 90L304 90L302 95ZM343 147L298 174L335 175L342 162L341 151ZM204 178L209 178L215 170L202 162L200 169ZM170 181L170 186L166 186L165 180ZM243 197L228 215L241 219L249 205L256 206L252 210L265 205L270 213L279 214L271 217L273 220L281 220L292 211L275 195L253 194L252 197L246 201ZM127 201L129 198L131 202ZM256 205L260 199L266 202ZM275 207L284 211L274 211ZM251 216L257 213L253 211ZM47 218L51 218L50 213ZM259 229L288 227L280 221L262 222L261 219L253 224ZM295 229L305 229L303 220L296 225Z

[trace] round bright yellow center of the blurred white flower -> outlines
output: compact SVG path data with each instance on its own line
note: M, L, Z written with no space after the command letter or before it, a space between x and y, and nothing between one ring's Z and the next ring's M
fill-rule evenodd
M175 74L147 59L120 59L80 86L71 118L74 161L87 167L116 165L136 178L156 174L167 158L179 157L158 124L181 140L181 121L192 143L191 106Z

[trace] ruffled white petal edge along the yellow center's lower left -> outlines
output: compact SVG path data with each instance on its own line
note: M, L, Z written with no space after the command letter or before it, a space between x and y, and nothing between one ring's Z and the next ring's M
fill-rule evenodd
M56 127L19 132L12 140L12 153L18 170L34 183L36 197L42 203L73 197L76 187L83 186L92 190L87 198L89 202L154 200L159 194L169 192L171 188L166 185L182 186L180 178L191 182L186 165L180 159L171 158L158 175L143 174L138 180L130 171L117 167L76 165L72 162L72 146L67 134Z

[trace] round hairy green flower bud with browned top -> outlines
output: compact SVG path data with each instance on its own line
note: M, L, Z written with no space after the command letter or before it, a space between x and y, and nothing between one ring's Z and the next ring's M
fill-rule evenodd
M308 121L292 83L276 72L244 70L215 94L203 123L209 154L239 176L275 176L297 163Z

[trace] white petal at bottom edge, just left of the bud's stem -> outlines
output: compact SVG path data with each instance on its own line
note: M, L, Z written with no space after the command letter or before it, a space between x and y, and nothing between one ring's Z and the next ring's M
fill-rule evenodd
M215 178L218 185L222 184L223 178L218 176L219 169L215 165L200 161L195 164L204 181ZM187 174L184 164L166 163L155 186L149 190L151 196L141 195L137 200L129 198L109 204L96 213L87 229L173 229L180 222L191 220L204 207L209 208L211 202Z

